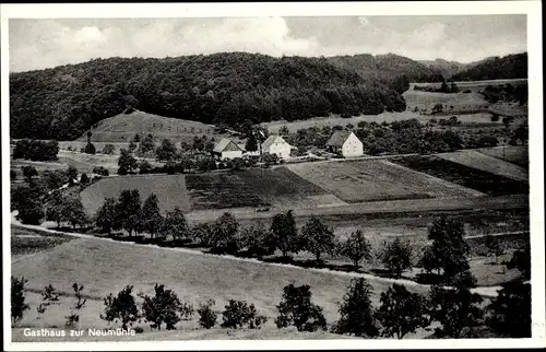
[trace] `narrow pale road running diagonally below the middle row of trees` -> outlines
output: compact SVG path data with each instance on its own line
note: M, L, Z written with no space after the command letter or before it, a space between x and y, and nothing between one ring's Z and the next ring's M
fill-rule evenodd
M12 222L12 224L13 224L13 222ZM39 231L49 232L49 233L60 233L60 234L64 234L64 235L73 236L73 237L83 238L83 239L105 240L105 242L112 242L112 243L118 243L120 245L127 245L127 246L149 247L149 248L156 248L156 249L178 251L178 253L187 253L187 254L200 255L200 256L211 256L211 257L215 257L215 258L219 257L219 258L227 259L227 260L253 262L253 263L259 263L259 265L263 265L263 266L274 266L274 267L280 267L280 268L290 268L290 269L298 269L298 270L310 270L310 271L314 271L314 272L330 273L330 274L341 275L341 277L364 278L364 279L367 279L370 281L379 281L379 282L383 282L383 283L397 283L397 284L404 284L406 286L412 286L412 288L430 289L430 285L428 285L428 284L418 283L418 282L415 282L413 280L407 280L407 279L381 278L381 277L372 275L369 273L344 272L344 271L330 270L330 269L323 269L323 268L302 268L302 267L294 266L290 263L264 262L264 261L261 261L261 260L258 260L254 258L240 258L240 257L235 257L235 256L229 256L229 255L213 255L213 254L203 253L201 250L195 250L195 249L190 249L190 248L161 247L161 246L151 245L151 244L136 244L133 242L116 240L112 238L97 237L97 236L87 235L87 234L59 232L56 230L41 227L39 225L25 225L25 224L21 224L21 223L15 223L14 225L17 225L21 227L26 227L26 228L32 228L32 230L39 230ZM501 289L502 289L502 286L500 286L500 285L498 285L498 286L478 286L478 288L471 289L471 291L474 293L477 293L482 296L496 297L497 291L499 291Z

